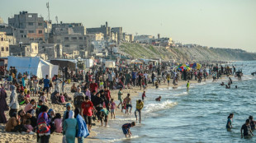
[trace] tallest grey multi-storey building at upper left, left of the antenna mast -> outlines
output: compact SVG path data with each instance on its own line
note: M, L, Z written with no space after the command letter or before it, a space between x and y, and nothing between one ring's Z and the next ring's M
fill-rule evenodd
M13 18L8 18L8 25L12 26L17 43L45 42L44 18L38 17L37 13L20 12Z

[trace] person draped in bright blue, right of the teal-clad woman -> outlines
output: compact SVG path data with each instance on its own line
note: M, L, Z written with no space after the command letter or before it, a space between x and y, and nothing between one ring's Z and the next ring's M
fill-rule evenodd
M75 108L74 118L76 118L78 122L76 137L78 137L78 143L83 143L83 138L86 138L87 136L89 136L89 132L88 132L88 127L86 126L85 121L83 120L82 116L79 113L80 113L80 110L78 108Z

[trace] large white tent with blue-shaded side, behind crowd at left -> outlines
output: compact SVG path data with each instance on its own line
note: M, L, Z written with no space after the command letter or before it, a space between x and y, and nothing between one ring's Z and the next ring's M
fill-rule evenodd
M39 57L8 57L8 66L15 67L17 69L17 73L21 72L23 74L27 71L29 75L36 75L39 78L45 78L48 75L50 78L58 75L59 66L50 64L50 62L46 62Z

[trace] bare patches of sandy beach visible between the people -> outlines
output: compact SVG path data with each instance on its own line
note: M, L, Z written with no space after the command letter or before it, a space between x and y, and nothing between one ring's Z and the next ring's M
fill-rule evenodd
M193 83L197 83L197 81L190 81L191 84ZM78 85L78 83L75 83L76 85ZM178 85L176 85L175 87L181 86L181 85L185 85L187 84L187 81L178 81ZM70 84L67 84L66 87L66 91L67 93L73 97L73 93L70 92L70 87L71 85L73 85L73 82L71 82ZM168 83L166 81L166 83L164 84L164 81L161 81L159 88L168 88L168 87L174 87L173 84L170 84L168 86ZM152 86L152 84L148 84L148 87L146 88L146 90L148 89L155 89L155 86ZM119 90L111 90L111 98L113 98L116 102L116 104L119 104L119 101L117 100L117 93ZM123 92L123 96L122 98L125 98L126 95L128 93L130 93L130 98L133 99L135 97L140 97L141 95L139 95L139 93L142 93L144 90L140 90L139 86L130 86L130 89L124 89L122 90ZM147 91L146 91L147 94ZM9 96L11 95L11 91L7 90L7 104L9 103ZM50 95L49 95L50 96ZM38 99L38 97L31 97L31 99ZM135 103L132 103L135 106ZM51 104L50 98L48 99L48 103L46 103L46 105L49 108L53 108L55 110L55 113L61 113L61 115L63 116L64 110L65 110L65 106L64 105L59 105L59 104ZM21 108L24 108L25 105L21 105ZM74 108L74 107L73 107ZM9 115L8 112L5 112L7 119L9 119ZM116 110L116 116L121 115L124 113L121 113L121 109ZM131 115L130 115L131 116ZM111 115L109 114L109 118L111 118ZM143 118L142 118L143 120ZM111 120L110 122L115 122L115 120ZM96 126L100 126L100 122L92 122L92 123L96 123ZM92 131L90 132L90 136L88 136L84 142L93 142L93 141L97 141L97 142L101 142L99 139L97 139L97 135L103 133L104 129L102 130L102 132L95 132L93 131L93 126L92 126ZM5 124L0 124L0 142L6 142L6 143L11 143L11 142L36 142L36 134L35 135L22 135L21 133L18 132L6 132L5 131ZM50 142L52 143L59 143L62 142L62 137L63 135L61 133L53 133L50 135ZM77 140L76 140L77 141Z

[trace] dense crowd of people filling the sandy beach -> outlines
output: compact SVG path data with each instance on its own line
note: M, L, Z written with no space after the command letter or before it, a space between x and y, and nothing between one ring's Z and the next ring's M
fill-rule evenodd
M206 70L207 69L207 70ZM233 71L233 72L232 72ZM213 81L221 78L222 75L235 74L242 76L242 72L235 72L235 67L218 66L218 64L203 64L200 69L183 70L168 69L168 66L135 65L134 67L107 68L92 67L91 71L70 71L69 67L62 70L62 75L55 75L51 79L48 75L39 79L37 76L25 72L17 73L15 67L10 67L4 83L1 85L0 100L0 122L7 123L6 131L19 131L23 134L37 135L37 141L41 143L49 142L50 134L53 132L63 133L64 140L73 142L75 137L78 142L83 142L92 130L93 122L101 122L101 125L107 127L108 115L116 118L116 109L125 110L126 114L131 113L132 101L130 94L126 97L123 89L130 89L134 86L145 90L149 84L159 88L161 82L168 82L173 79L173 85L178 85L179 80L193 80L201 82L202 78L212 76ZM79 77L79 78L78 78ZM67 84L73 81L69 95ZM232 81L230 79L230 84ZM187 81L187 91L189 89ZM11 91L10 104L7 104L7 92ZM111 97L111 90L118 91L117 105L115 99ZM49 97L50 96L50 97ZM135 118L141 122L141 110L144 107L145 91L141 99L135 103ZM156 99L160 101L161 96ZM47 104L65 105L66 111L55 113ZM20 106L25 105L24 108ZM117 105L117 106L116 106ZM74 110L72 109L74 107ZM4 111L9 111L7 120ZM139 117L137 116L139 113ZM63 115L63 116L61 116ZM62 118L61 118L62 117ZM134 127L135 122L126 123L122 126L126 136L130 136L130 127Z

